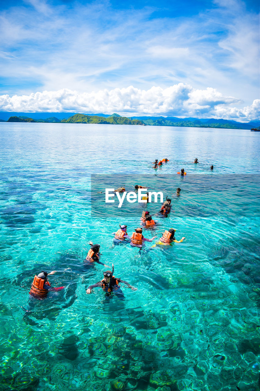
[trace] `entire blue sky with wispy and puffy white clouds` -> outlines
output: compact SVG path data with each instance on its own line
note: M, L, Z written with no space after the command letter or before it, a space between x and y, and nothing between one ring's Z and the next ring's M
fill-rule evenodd
M260 120L258 0L0 0L0 111Z

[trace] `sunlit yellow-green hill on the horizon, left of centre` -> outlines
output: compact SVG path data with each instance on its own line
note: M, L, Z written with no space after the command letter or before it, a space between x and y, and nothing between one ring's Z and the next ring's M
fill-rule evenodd
M118 124L118 125L144 125L140 120L130 120L126 117L98 117L96 115L75 114L68 119L62 120L62 123L69 124Z

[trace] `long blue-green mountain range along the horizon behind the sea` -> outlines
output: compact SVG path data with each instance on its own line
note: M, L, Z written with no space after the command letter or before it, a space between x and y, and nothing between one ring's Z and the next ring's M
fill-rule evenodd
M212 127L228 129L251 129L260 127L260 121L237 122L215 118L178 118L178 117L121 117L119 114L79 114L79 113L12 113L20 114L10 117L10 112L0 112L0 122L53 122L81 124L121 124L150 126L186 126ZM26 115L27 114L27 115ZM28 115L30 117L28 117ZM52 115L50 117L50 115ZM9 119L8 119L9 118Z

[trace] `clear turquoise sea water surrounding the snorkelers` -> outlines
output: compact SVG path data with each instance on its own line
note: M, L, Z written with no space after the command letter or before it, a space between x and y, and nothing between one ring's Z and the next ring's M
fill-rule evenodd
M77 124L0 129L2 389L259 389L259 134ZM163 157L170 161L155 172L149 162ZM185 178L176 176L182 167ZM148 252L111 248L118 224L126 222L131 234L143 210L132 204L127 217L91 214L90 175L113 173L115 187L128 186L126 174L136 183L143 175L161 181L175 212L157 216L158 228L144 236L174 227L186 240ZM101 289L85 294L104 270L84 264L89 240L100 243L101 261L114 262L116 276L138 288L122 285L125 301L106 301ZM66 289L23 318L19 306L28 306L42 269L57 270L49 280Z

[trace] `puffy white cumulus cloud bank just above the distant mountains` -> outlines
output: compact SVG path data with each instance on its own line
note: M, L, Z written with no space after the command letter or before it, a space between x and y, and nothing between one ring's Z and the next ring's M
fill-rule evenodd
M174 117L224 118L249 122L260 119L260 99L250 106L237 108L239 99L224 96L214 88L198 90L178 83L168 88L141 90L129 86L77 92L69 89L43 91L30 95L0 95L1 111L50 111L113 113L122 115L165 115Z

